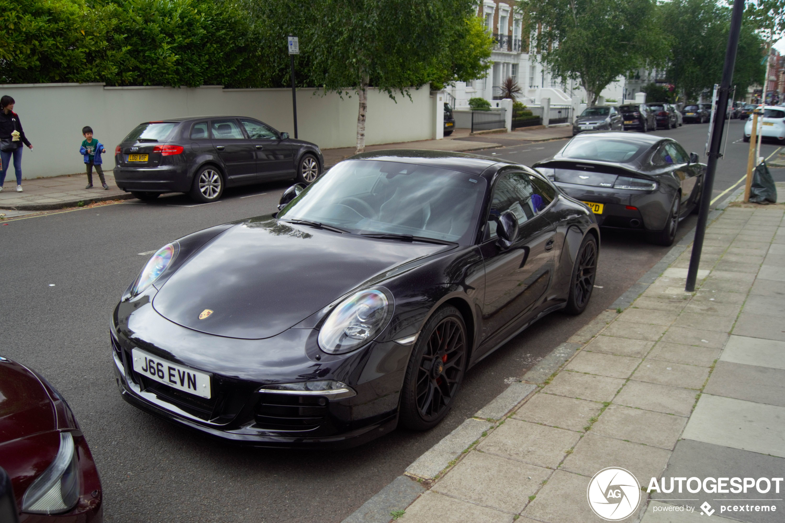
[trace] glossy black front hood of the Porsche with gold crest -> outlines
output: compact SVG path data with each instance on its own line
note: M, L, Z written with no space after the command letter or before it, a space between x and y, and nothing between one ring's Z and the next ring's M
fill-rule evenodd
M219 234L164 283L153 307L217 336L276 336L382 271L444 245L378 241L276 220Z

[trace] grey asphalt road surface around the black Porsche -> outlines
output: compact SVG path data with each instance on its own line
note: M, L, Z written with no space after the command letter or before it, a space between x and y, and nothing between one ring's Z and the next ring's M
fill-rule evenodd
M732 136L740 136L737 123L731 124ZM700 152L706 129L685 125L658 133ZM531 163L564 143L484 154ZM717 192L742 176L746 145L728 143ZM775 149L765 145L763 151ZM468 373L447 419L426 433L396 430L341 452L239 449L126 404L115 387L107 329L112 307L147 260L139 253L203 227L272 212L287 185L230 190L221 202L207 205L177 195L0 226L5 271L0 354L37 369L68 399L97 461L106 521L341 521L502 392L507 378L521 376L608 307L667 252L637 234L604 231L589 309L578 317L543 318L486 358ZM682 222L680 236L694 220Z

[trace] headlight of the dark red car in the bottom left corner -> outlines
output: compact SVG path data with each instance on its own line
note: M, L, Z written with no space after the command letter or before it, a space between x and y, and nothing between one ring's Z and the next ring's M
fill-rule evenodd
M60 432L60 450L44 473L33 481L22 498L22 511L34 514L67 512L79 501L79 463L74 438Z

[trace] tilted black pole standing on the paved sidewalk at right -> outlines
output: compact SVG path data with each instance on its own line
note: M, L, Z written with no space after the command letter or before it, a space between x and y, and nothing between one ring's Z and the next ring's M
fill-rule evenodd
M700 195L700 212L698 225L695 230L695 242L692 244L692 256L689 259L687 271L687 285L685 290L693 292L698 279L700 266L700 253L703 251L703 238L706 236L706 223L709 221L709 205L711 192L714 189L714 173L717 171L717 160L721 157L722 131L725 130L725 109L728 107L728 94L731 90L733 67L736 65L736 49L739 47L739 32L741 32L741 19L744 13L744 0L733 2L731 16L731 30L728 34L728 49L725 50L725 65L722 67L722 83L719 89L719 100L715 111L714 127L711 129L711 143L709 145L709 161L707 162L706 176L703 180L703 193Z

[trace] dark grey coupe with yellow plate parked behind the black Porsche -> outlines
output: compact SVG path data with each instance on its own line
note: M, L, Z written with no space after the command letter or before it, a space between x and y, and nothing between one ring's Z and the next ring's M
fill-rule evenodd
M672 245L679 222L698 211L706 174L676 140L626 132L582 133L533 167L601 226L637 229L656 245Z

